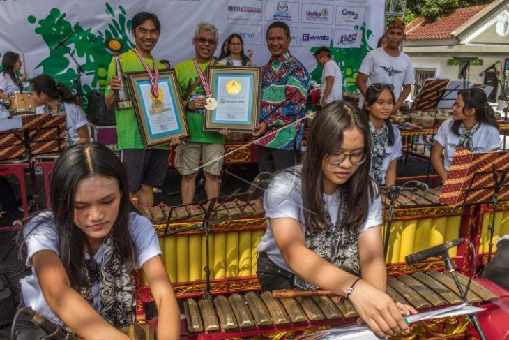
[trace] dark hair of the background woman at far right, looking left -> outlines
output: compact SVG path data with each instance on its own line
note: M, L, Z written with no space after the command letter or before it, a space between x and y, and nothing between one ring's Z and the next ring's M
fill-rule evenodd
M480 124L487 124L499 128L499 124L496 122L495 112L488 103L485 91L478 87L471 87L458 91L458 96L459 95L462 96L464 102L463 114L465 114L466 110L474 109L476 110L476 120ZM461 125L461 121L453 121L453 125L450 129L455 135L459 135L459 126Z

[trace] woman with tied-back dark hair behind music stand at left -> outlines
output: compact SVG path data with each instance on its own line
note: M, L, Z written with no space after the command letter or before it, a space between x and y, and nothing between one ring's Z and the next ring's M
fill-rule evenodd
M33 78L30 90L36 103L36 113L66 114L66 144L68 147L89 142L90 126L79 100L64 84L48 75Z

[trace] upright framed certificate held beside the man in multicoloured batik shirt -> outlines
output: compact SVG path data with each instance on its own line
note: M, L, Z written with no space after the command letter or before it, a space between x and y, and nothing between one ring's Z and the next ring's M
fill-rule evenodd
M258 125L260 78L259 67L210 66L208 84L218 106L206 110L204 131L251 132Z

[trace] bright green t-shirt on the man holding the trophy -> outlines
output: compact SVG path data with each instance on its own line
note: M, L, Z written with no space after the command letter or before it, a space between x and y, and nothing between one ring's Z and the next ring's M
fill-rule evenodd
M152 59L144 58L146 64L149 66L151 70L153 70ZM165 70L166 67L162 65L159 61L155 61L158 68L160 70ZM135 71L145 71L143 64L139 61L137 54L133 50L129 50L126 53L120 54L120 65L122 67L122 71L124 74L128 72ZM115 63L112 59L112 62L108 67L108 80L112 79L115 75ZM124 80L124 87L126 87L127 91L129 88L126 84L126 80ZM106 87L105 96L110 94L113 90ZM135 109L124 109L124 110L115 110L116 117L116 135L119 140L119 150L122 149L144 149L142 135L139 132L138 121L136 119ZM155 149L167 150L168 145L163 145L161 147L155 147Z

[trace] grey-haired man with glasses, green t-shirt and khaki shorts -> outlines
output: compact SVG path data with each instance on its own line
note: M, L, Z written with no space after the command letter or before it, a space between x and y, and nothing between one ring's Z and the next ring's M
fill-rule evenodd
M207 79L207 68L218 45L218 29L208 22L199 22L192 38L192 45L195 46L194 59ZM203 131L206 93L202 82L199 81L194 59L182 61L175 66L190 134L185 144L178 145L175 156L175 168L182 175L183 204L191 203L195 196L195 180L200 167L200 158L205 175L207 199L218 197L219 175L225 154L223 135L229 133L226 129L220 133Z

